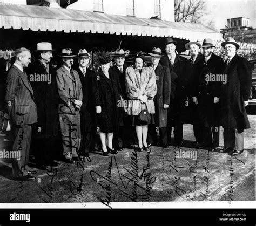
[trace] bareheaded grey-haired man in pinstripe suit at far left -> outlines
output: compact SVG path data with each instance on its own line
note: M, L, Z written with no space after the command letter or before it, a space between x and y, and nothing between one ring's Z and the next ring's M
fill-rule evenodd
M22 180L33 180L35 177L28 172L29 149L32 124L37 122L37 110L33 90L28 76L23 70L30 63L30 50L15 50L15 63L11 66L6 80L5 103L11 119L14 142L12 151L20 152L21 158L12 161L14 177Z

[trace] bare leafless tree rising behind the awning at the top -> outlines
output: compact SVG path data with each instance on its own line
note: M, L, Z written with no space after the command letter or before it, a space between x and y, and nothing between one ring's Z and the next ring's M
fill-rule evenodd
M205 14L205 0L175 0L174 15L176 22L198 23Z

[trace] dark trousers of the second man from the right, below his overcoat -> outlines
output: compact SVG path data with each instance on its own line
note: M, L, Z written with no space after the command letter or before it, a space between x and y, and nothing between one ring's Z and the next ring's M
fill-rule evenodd
M204 142L205 145L211 147L219 147L220 128L219 126L213 126L204 128Z

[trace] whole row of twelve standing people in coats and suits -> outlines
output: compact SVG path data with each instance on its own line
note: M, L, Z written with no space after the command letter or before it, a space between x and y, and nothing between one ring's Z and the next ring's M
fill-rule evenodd
M14 135L12 150L22 156L12 163L14 177L35 179L35 172L27 167L30 143L37 168L59 166L53 160L58 128L66 163L89 157L96 147L104 156L135 145L138 152L150 150L150 145L167 148L172 127L175 145L182 146L183 124L188 121L193 124L196 148L241 154L244 129L250 128L245 107L252 70L236 54L239 44L233 38L221 45L228 57L225 62L213 53L211 39L203 45L187 43L191 53L187 59L177 53L177 42L166 38L166 54L159 47L149 53L151 66L145 66L145 56L138 54L134 65L126 67L127 55L116 50L112 56L99 57L97 72L87 67L91 56L85 49L77 54L63 49L58 70L49 64L55 51L51 43L37 44L32 63L30 50L15 50L5 93L5 118L11 120ZM115 64L110 67L112 57ZM223 149L219 149L220 126L224 127Z

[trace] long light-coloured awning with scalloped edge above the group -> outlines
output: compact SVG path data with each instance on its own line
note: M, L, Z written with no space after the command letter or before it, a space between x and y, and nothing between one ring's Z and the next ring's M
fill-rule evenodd
M1 5L0 28L150 37L170 36L198 40L198 42L203 41L204 38L222 39L219 31L202 24L169 22L34 5Z

